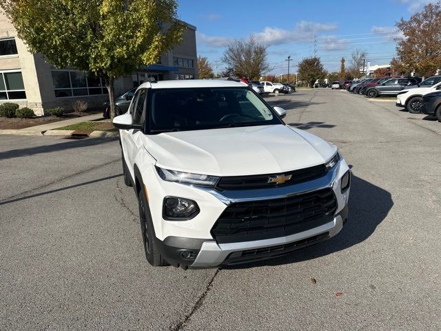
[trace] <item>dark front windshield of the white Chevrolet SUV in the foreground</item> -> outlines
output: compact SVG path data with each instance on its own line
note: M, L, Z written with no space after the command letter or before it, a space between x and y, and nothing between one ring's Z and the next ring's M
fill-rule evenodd
M152 89L149 132L283 123L249 88Z

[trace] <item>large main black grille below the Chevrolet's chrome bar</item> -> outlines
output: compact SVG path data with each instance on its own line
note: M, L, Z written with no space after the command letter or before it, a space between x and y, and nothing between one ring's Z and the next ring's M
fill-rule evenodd
M337 200L331 188L293 197L229 205L212 228L218 243L286 237L334 219Z

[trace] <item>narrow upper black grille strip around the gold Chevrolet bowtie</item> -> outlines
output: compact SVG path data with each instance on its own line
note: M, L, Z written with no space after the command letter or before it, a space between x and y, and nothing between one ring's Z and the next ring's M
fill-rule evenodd
M252 176L231 176L221 177L216 185L218 190L249 190L254 188L273 188L283 185L292 185L302 183L304 181L311 181L312 179L325 176L327 168L324 164L316 165L314 167L299 169L289 172L284 172L285 176L291 175L291 179L283 184L268 183L271 176L277 174L256 174Z

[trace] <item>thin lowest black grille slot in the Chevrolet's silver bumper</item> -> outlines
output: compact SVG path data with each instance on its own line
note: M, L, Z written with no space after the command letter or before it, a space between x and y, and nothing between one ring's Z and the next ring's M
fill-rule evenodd
M329 238L329 232L320 233L316 236L300 239L292 243L285 243L284 245L270 246L265 248L256 248L254 250L243 250L239 252L233 252L227 256L227 259L223 261L223 265L234 265L238 263L247 263L252 261L258 261L263 259L283 257L286 254L300 250L316 243L320 243Z

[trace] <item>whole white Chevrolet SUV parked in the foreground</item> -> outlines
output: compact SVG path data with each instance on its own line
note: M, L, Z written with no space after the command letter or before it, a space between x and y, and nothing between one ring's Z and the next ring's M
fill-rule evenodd
M289 254L336 235L351 172L336 146L283 123L234 81L143 83L115 117L147 261L182 268Z

